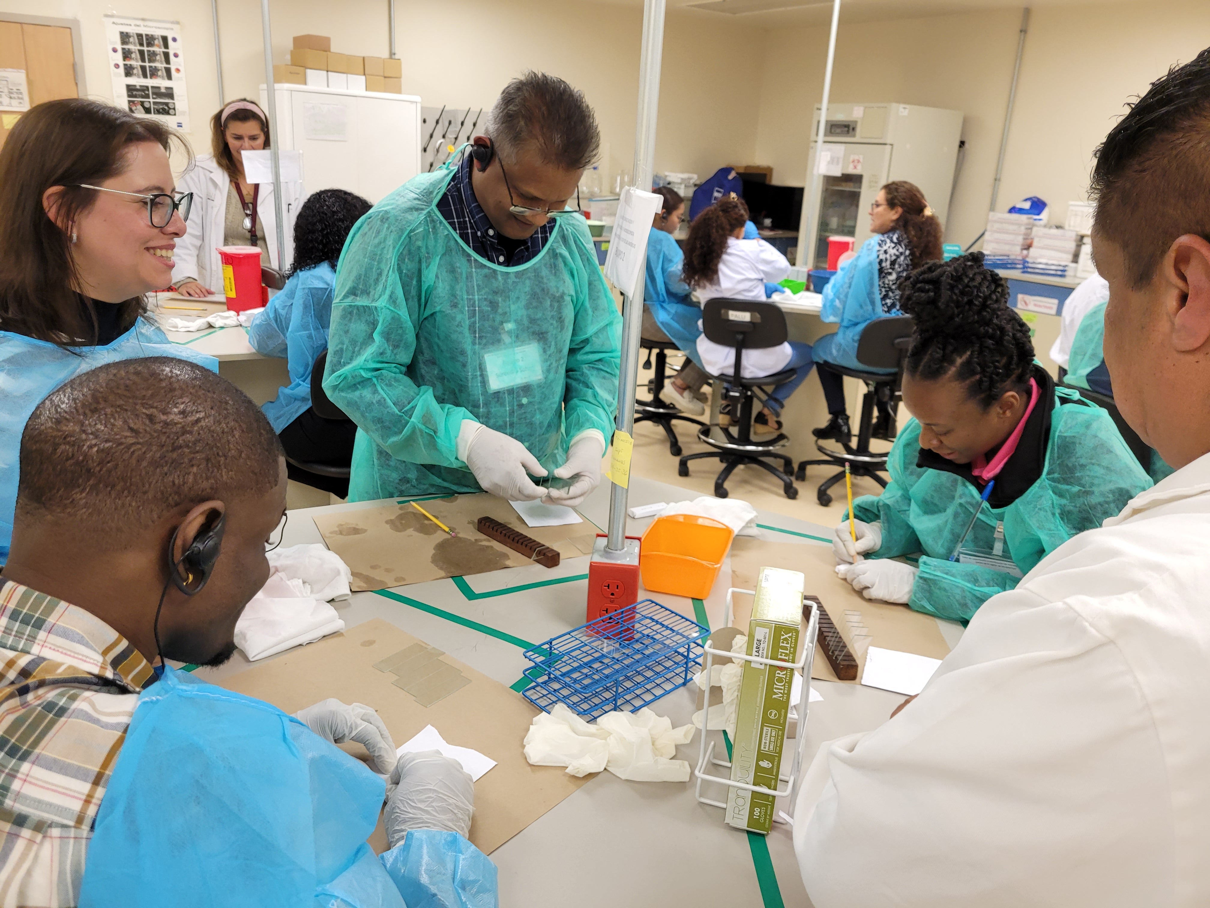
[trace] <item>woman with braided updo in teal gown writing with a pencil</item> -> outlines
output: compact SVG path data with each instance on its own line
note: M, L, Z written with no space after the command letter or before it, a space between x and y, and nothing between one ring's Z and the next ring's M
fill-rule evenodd
M983 253L924 265L899 305L915 318L903 381L914 418L886 490L846 515L857 542L848 519L836 528L836 573L868 599L966 622L1152 483L1108 413L1035 362ZM892 561L916 552L917 567Z

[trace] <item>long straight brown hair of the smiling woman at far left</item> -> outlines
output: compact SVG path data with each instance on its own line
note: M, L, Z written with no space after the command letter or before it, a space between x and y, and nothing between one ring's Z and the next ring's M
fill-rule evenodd
M74 224L97 197L76 184L122 173L132 144L154 142L167 151L172 140L188 154L185 142L159 121L86 98L44 102L17 121L0 151L0 328L62 347L97 343L97 315L76 292L71 229L51 220L42 195L63 186L58 213ZM143 297L120 305L123 328L145 308Z

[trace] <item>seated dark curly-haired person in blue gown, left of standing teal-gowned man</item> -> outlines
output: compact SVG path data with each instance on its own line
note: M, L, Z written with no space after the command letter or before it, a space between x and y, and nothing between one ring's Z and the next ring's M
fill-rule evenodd
M353 224L370 209L359 195L321 189L294 222L294 264L282 292L269 300L248 328L248 343L263 356L284 357L290 384L264 404L270 425L293 459L348 466L357 425L324 419L311 409L311 367L328 349L336 260ZM348 496L348 478L319 476L287 464L292 479L338 498Z

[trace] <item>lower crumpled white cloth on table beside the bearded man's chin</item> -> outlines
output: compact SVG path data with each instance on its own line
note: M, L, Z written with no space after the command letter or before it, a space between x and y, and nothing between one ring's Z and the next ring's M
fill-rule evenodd
M307 584L275 570L236 621L235 645L255 662L344 630L336 610L313 598Z

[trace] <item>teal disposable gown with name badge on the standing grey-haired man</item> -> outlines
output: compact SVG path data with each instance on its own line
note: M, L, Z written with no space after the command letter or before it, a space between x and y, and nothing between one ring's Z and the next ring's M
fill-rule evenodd
M358 427L350 501L479 492L457 458L466 419L547 470L584 430L613 433L622 318L584 219L559 218L536 258L497 265L437 211L453 173L374 206L336 268L323 387Z

